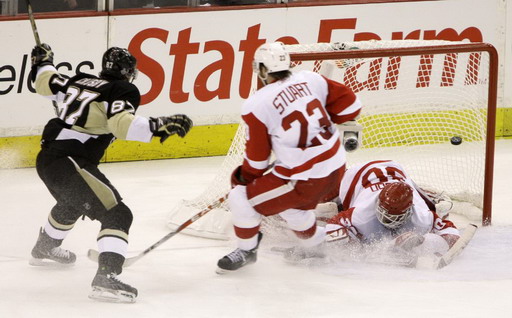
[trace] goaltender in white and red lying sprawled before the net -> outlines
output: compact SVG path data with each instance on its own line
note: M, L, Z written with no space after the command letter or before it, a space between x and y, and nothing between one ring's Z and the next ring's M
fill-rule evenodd
M442 237L446 248L459 238L455 225L436 213L435 202L395 161L370 161L348 169L339 199L342 211L328 221L328 240L347 235L363 244L390 239L410 251L428 235Z

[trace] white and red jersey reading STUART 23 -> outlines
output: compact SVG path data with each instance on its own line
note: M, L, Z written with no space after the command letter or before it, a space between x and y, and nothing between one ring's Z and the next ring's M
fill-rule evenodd
M328 176L345 164L334 123L354 120L360 110L352 90L314 72L300 71L266 85L242 107L247 126L244 179L262 176L272 151L273 173L280 178Z

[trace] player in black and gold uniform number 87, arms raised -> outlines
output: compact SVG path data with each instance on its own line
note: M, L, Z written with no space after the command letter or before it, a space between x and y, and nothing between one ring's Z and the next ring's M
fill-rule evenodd
M76 255L60 247L81 216L101 223L97 237L99 264L89 297L96 300L134 302L137 289L121 282L128 249L132 212L98 164L116 138L164 142L177 134L185 137L192 127L186 115L144 118L135 115L140 92L132 84L136 59L126 49L112 47L103 55L99 77L67 77L53 65L47 44L31 53L36 92L54 101L56 117L43 130L36 170L57 201L32 249L32 265L71 265Z

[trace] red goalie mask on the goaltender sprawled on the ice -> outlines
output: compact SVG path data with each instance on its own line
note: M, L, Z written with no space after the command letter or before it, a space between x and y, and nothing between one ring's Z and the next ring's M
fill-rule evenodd
M404 182L384 186L377 200L377 219L388 229L397 229L412 215L412 188Z

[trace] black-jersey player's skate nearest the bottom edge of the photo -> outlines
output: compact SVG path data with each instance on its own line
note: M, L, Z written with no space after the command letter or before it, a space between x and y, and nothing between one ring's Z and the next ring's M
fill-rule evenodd
M105 302L134 303L137 289L121 282L115 273L96 274L89 298Z

